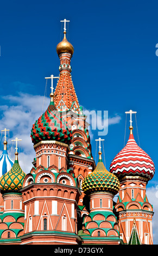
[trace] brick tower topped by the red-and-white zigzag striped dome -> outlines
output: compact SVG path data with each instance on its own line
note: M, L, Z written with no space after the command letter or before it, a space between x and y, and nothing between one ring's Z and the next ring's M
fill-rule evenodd
M146 185L155 173L153 161L135 142L130 125L127 145L111 162L110 172L117 175L120 190L115 205L124 243L153 244L153 206L148 202ZM135 232L134 232L135 230ZM137 239L131 239L137 234Z

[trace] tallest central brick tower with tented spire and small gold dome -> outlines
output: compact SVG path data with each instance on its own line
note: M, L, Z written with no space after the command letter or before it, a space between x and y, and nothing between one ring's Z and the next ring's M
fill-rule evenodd
M72 130L72 137L69 143L68 168L73 170L75 178L78 178L79 188L85 176L92 172L96 166L91 152L91 142L89 130L86 122L86 115L79 106L79 101L74 90L71 76L71 58L74 48L66 39L66 29L64 39L56 46L56 52L60 59L59 81L54 93L54 103L56 109L60 111L62 119L67 121ZM83 205L84 193L79 199L79 205Z

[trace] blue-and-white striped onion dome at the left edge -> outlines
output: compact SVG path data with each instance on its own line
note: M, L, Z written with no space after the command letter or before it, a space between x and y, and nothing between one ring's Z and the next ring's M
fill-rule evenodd
M14 162L12 161L10 156L8 155L7 141L4 141L3 143L4 143L4 149L3 149L3 152L0 156L0 177L3 174L9 172L9 170L11 169L11 167L14 164Z

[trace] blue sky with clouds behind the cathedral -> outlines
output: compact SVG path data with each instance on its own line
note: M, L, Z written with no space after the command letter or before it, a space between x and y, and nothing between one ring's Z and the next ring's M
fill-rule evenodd
M157 170L157 10L157 1L1 2L1 129L6 126L10 138L22 138L19 158L24 171L29 172L34 157L31 125L49 102L48 86L43 104L45 77L59 75L56 45L62 40L64 19L71 21L67 39L74 47L72 80L79 103L90 111L108 111L111 120L104 137L106 168L124 147L124 136L127 142L130 123L128 116L125 132L124 112L132 109L137 111L136 142L139 138ZM91 132L95 159L99 136L97 130ZM23 161L29 161L29 167ZM158 212L157 181L156 171L147 192Z

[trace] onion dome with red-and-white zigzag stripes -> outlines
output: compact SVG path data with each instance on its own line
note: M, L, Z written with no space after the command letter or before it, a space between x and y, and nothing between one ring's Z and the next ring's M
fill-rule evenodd
M135 142L130 126L130 136L125 147L115 156L110 165L110 172L118 178L141 176L151 180L155 173L153 161Z

